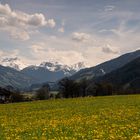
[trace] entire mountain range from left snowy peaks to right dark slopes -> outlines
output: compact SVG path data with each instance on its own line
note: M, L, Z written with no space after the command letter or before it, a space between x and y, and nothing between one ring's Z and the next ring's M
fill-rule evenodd
M139 58L140 50L137 50L91 68L85 68L83 62L68 66L52 61L42 62L38 66L26 66L17 57L5 58L0 63L0 86L10 85L18 89L35 88L42 83L56 82L64 77L76 81L91 79L116 82L117 85L124 86L135 83L139 86ZM125 82L123 78L130 80Z

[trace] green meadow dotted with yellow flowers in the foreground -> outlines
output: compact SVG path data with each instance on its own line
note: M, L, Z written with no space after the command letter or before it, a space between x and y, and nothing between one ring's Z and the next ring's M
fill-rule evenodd
M139 140L140 95L0 105L0 140Z

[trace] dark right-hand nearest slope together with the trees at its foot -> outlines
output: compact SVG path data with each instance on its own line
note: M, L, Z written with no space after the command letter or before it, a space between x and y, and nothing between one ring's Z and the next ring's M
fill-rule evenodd
M59 85L64 98L139 93L140 57L104 76L80 81L65 78Z

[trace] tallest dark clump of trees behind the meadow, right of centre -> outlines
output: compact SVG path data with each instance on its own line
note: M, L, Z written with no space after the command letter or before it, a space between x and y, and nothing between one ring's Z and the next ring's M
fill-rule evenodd
M64 78L59 82L59 96L64 98L112 95L109 83L94 83L82 79L79 82Z

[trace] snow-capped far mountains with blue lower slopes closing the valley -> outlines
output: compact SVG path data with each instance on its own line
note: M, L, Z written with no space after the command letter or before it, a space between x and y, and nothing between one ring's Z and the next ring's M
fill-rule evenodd
M18 70L22 74L36 79L37 82L57 81L61 78L72 76L80 69L85 68L83 62L74 65L65 65L55 61L42 62L39 65L25 65L18 57L3 58L0 64Z

